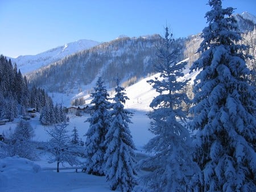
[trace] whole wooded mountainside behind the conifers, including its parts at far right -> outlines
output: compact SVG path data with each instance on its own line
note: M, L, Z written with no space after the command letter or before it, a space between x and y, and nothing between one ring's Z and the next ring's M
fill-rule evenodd
M255 35L249 35L255 28L255 16L244 12L234 15L244 40L240 43L250 46L250 55L254 56ZM74 53L63 59L44 66L27 74L28 80L36 86L48 91L59 93L79 93L89 91L98 76L104 78L108 87L115 85L117 75L125 82L125 86L134 84L141 78L154 73L152 64L157 62L155 44L160 40L159 35L145 37L119 37L108 43L102 43L85 51ZM177 39L183 46L184 53L180 61L189 57L189 65L197 59L197 48L201 43L200 35ZM195 54L196 53L196 54Z

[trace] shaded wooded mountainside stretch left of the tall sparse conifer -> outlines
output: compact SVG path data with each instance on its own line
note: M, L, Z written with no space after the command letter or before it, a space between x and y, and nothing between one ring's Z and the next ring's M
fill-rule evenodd
M49 91L69 93L90 84L99 74L108 87L115 77L123 81L152 73L159 35L123 37L65 57L27 75L30 82ZM134 80L134 81L135 81Z

